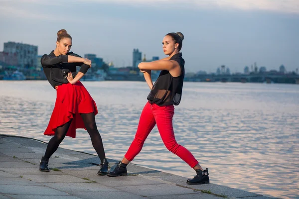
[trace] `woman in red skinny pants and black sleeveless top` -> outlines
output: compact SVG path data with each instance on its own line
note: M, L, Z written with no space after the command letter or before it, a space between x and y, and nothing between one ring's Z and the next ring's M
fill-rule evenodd
M178 105L181 100L185 74L185 61L182 53L179 52L183 39L184 36L180 32L168 33L163 38L162 44L164 54L169 57L158 61L142 62L138 65L151 90L148 96L149 101L141 113L135 139L123 160L119 162L114 171L108 172L108 176L127 175L127 165L140 153L150 131L157 125L166 148L196 171L196 176L187 180L187 184L209 183L208 169L203 170L190 151L176 143L172 127L173 105ZM161 70L154 85L150 77L151 70Z

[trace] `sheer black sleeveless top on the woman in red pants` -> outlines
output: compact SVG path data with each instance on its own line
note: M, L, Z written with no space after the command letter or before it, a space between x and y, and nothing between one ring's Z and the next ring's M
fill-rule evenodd
M185 76L185 60L182 58L182 53L173 55L170 60L178 62L181 74L178 77L172 77L169 71L161 71L149 93L149 103L155 103L159 106L178 105L181 100Z

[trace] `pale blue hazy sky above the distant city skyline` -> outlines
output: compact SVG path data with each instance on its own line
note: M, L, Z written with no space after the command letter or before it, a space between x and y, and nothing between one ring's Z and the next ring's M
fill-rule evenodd
M299 0L0 0L0 27L0 51L14 41L49 54L66 29L71 51L116 67L132 65L134 48L165 57L163 37L180 31L186 72L299 68Z

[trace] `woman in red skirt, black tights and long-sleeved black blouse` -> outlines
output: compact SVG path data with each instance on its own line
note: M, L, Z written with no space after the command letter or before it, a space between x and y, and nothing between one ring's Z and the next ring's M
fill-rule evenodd
M54 136L50 139L45 155L40 161L39 170L49 172L49 158L64 137L75 138L76 129L84 128L89 133L92 145L101 160L98 175L106 175L108 161L95 121L98 109L95 101L79 81L91 66L91 61L69 52L71 46L72 37L66 30L59 30L56 49L49 55L43 55L40 60L47 80L56 89L57 98L48 127L44 132L45 135ZM81 66L78 73L76 66Z

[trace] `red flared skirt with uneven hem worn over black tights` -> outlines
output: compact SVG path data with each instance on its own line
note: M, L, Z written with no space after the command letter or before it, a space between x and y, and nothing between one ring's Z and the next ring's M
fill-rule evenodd
M56 92L55 106L44 135L54 135L58 126L73 119L66 136L75 138L77 128L86 129L80 113L94 112L96 115L98 114L97 105L79 81L74 85L60 85Z

